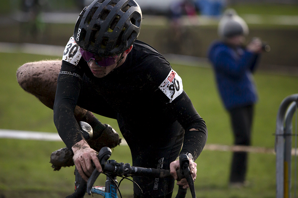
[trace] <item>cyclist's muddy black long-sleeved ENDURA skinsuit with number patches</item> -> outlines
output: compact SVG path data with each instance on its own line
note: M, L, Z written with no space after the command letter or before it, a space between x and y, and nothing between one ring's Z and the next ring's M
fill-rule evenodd
M164 88L168 96L162 91ZM133 166L169 169L182 144L181 152L192 153L196 159L207 141L205 122L183 91L181 78L160 53L138 40L125 63L102 78L93 76L75 42L68 43L58 77L54 122L70 150L83 139L73 115L76 104L117 119L131 149ZM189 131L193 128L199 131ZM173 179L134 180L143 189L144 197L173 191Z

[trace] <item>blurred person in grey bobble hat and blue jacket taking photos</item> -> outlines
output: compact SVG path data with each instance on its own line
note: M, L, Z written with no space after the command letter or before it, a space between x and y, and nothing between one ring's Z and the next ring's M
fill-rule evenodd
M262 42L254 38L244 46L248 34L246 22L235 10L228 9L219 21L220 40L213 42L208 52L218 91L230 115L235 145L251 145L254 104L257 102L252 73L262 52ZM234 152L229 186L245 186L246 170L247 153Z

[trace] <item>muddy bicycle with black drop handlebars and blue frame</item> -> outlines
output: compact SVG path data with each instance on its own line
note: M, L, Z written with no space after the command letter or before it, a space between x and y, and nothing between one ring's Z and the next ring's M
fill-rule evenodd
M84 138L89 139L92 138L92 128L86 122L79 123L81 127L81 132ZM133 180L129 179L128 177L132 176L147 176L153 178L165 178L165 177L172 177L170 174L170 170L164 169L154 169L154 168L143 168L143 167L134 167L131 166L129 163L124 164L123 162L118 163L116 160L109 160L111 156L111 149L108 147L103 147L97 154L97 157L100 161L101 167L103 169L103 174L106 175L106 182L105 186L93 186L95 180L100 175L96 169L92 172L92 175L86 182L77 172L75 169L75 192L66 198L82 198L84 197L85 193L87 192L89 195L92 194L99 194L106 198L118 198L118 192L120 198L122 198L121 192L119 190L120 183L124 179L128 179L132 182ZM195 198L195 187L193 183L192 175L190 174L190 162L189 158L186 154L182 154L179 156L180 162L180 169L178 169L178 181L182 178L186 178L189 186L192 198ZM117 181L117 176L121 177L122 179ZM135 182L134 182L135 183ZM138 185L137 185L138 186ZM142 197L142 189L139 187ZM179 186L178 193L176 198L184 198L187 193L187 189L183 189L182 186Z

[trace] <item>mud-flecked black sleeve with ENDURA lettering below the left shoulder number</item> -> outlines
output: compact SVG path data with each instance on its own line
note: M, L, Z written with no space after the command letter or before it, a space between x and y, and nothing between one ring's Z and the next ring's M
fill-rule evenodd
M72 151L72 146L83 140L74 110L82 85L83 71L80 67L62 61L58 75L54 103L54 123L63 142Z

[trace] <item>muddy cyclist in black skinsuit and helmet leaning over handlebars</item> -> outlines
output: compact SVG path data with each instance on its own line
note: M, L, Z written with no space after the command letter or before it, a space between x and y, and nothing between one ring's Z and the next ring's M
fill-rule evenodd
M22 88L34 92L49 107L54 100L47 92L55 90L53 85L58 82L53 104L55 126L73 151L75 166L84 180L94 170L91 160L102 171L96 151L82 137L76 120L90 120L90 112L117 119L133 166L170 169L176 179L176 159L185 153L196 178L194 161L207 141L205 122L169 62L153 47L136 40L141 20L142 12L134 0L95 0L77 19L60 72L59 61L29 63L18 69ZM39 91L38 84L46 90ZM98 121L94 118L93 122ZM145 197L172 195L173 178L133 179ZM188 187L186 180L177 184ZM140 197L136 185L134 197Z

